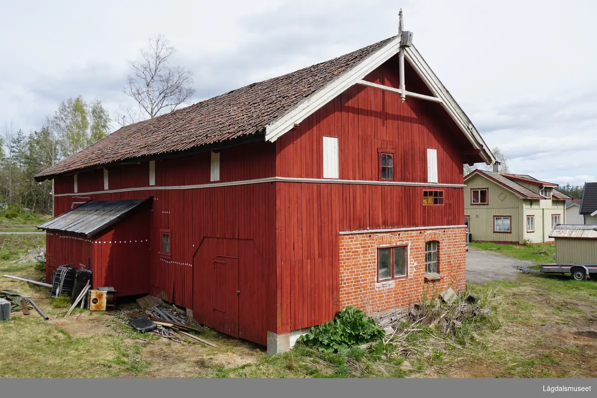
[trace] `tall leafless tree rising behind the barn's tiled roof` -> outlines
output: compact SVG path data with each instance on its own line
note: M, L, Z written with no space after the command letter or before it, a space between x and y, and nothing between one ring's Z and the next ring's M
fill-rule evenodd
M181 66L168 65L175 52L176 48L163 35L158 35L149 40L149 49L141 50L143 61L129 62L133 72L128 75L122 92L133 98L150 118L163 109L176 109L195 94L192 73ZM122 113L126 123L127 112Z

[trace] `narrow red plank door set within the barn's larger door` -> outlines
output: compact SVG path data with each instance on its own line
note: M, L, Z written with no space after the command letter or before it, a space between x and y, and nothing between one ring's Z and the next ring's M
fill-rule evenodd
M212 326L217 331L238 337L238 257L228 255L229 251L219 252L213 259L214 278L211 286L213 303Z

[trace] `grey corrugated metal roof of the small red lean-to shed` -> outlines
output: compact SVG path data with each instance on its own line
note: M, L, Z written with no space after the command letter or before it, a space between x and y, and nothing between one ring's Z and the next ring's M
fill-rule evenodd
M39 225L38 229L79 233L91 237L112 226L128 212L149 199L90 200L50 221L46 221Z

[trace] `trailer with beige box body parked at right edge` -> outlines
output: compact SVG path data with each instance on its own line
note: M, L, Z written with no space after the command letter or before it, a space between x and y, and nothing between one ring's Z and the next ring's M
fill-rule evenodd
M553 264L538 270L519 267L522 273L570 273L571 279L597 279L597 226L558 224L549 233L555 242Z

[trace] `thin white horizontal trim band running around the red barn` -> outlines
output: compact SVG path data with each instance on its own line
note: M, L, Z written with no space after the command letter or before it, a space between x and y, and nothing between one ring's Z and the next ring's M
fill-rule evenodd
M116 192L131 192L131 191L154 191L154 190L176 190L176 189L200 189L200 188L214 188L214 187L228 187L235 185L248 185L260 183L323 183L323 184L356 184L356 185L389 185L389 186L413 186L413 187L430 187L430 188L464 188L464 184L433 184L433 183L401 183L398 181L361 181L361 180L337 180L333 178L292 178L292 177L267 177L257 178L255 180L229 181L227 183L210 183L198 185L179 185L179 186L150 186L150 187L135 187L123 189L106 189L104 191L95 192L78 192L78 193L59 193L58 196L74 196L74 195L99 195L101 193L116 193Z

